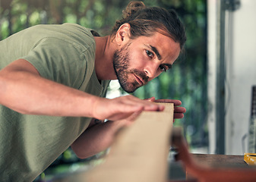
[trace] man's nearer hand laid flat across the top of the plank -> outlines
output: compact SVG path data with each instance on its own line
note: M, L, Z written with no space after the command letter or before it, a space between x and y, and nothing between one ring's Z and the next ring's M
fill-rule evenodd
M128 95L115 99L99 98L94 102L92 112L93 118L117 121L128 118L134 113L141 113L141 111L163 111L163 109L163 105Z

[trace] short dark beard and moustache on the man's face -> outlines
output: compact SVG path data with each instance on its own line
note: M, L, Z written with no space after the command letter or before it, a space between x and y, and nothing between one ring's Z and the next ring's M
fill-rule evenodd
M148 82L148 77L143 71L138 71L137 69L129 70L130 56L128 52L128 47L131 43L125 45L122 49L116 50L113 56L113 67L115 70L115 75L119 80L119 84L122 89L127 93L133 93L137 88L139 88L141 83L135 80L133 75L140 77L141 80L146 84ZM132 79L129 80L129 75Z

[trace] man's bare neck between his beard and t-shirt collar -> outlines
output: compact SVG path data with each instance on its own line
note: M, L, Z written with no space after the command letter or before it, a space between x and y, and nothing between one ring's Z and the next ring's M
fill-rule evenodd
M110 36L96 36L95 71L98 80L115 80L115 71L112 58L115 52L115 44Z

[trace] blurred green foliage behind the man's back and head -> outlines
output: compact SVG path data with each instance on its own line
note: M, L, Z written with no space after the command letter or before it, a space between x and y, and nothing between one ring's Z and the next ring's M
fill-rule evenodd
M128 0L0 0L0 40L36 24L81 24L109 34ZM145 0L145 5L174 8L185 24L185 52L171 71L134 93L144 99L179 99L187 109L175 120L191 147L207 146L207 5L206 0Z

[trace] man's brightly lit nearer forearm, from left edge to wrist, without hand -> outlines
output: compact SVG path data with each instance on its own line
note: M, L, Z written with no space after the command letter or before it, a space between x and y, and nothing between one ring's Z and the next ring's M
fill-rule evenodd
M100 98L46 80L36 71L0 71L0 104L22 114L93 117L90 106L96 99Z

